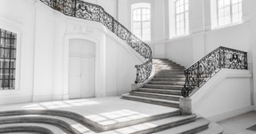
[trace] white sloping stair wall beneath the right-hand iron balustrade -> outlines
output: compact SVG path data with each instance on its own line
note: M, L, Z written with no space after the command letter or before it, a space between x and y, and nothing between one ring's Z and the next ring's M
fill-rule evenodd
M211 121L252 111L248 70L221 69L191 97L193 111Z

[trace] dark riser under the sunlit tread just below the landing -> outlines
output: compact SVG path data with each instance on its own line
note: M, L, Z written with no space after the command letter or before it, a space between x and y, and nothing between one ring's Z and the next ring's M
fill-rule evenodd
M194 121L195 121L195 118L189 118L189 119L178 121L178 122L166 123L164 125L157 126L152 129L147 129L147 130L142 130L142 131L136 132L136 134L151 134L151 133L159 132L161 130L168 130L170 128L174 128L174 127L177 127L177 126L180 126L180 125L183 125L186 123L194 122Z

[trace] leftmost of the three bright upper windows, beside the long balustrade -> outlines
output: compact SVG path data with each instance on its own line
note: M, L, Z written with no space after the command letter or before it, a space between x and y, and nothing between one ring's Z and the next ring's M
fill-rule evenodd
M143 41L151 40L150 4L132 4L132 32Z

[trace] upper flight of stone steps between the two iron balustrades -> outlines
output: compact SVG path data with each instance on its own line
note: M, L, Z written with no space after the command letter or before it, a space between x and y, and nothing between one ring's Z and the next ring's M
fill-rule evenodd
M169 59L153 59L154 77L137 91L122 95L122 99L136 100L161 106L179 107L181 90L185 84L185 67Z

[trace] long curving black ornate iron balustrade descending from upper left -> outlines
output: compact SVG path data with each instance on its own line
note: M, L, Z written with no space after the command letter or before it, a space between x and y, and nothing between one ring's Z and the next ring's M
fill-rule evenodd
M90 4L82 0L40 0L56 11L71 17L83 20L93 20L102 23L115 35L137 51L146 59L142 65L136 65L135 83L143 83L149 78L152 72L152 50L150 46L132 34L127 28L115 20L109 13L105 12L103 7L96 4Z

